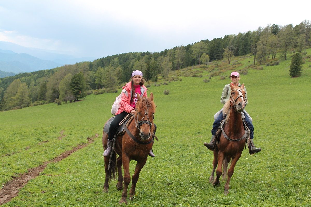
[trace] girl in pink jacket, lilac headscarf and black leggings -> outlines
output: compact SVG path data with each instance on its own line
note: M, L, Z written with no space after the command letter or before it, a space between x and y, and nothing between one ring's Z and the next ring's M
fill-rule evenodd
M107 141L107 149L104 151L104 156L109 156L111 152L111 144L112 139L114 138L115 133L117 132L118 127L120 126L119 123L129 114L136 114L135 107L137 103L137 93L139 95L147 97L147 88L144 86L144 79L142 78L142 72L139 70L135 70L132 73L132 80L131 82L128 82L125 86L122 87L125 89L129 96L125 95L125 93L122 93L121 98L121 106L119 110L116 113L116 116L112 120L109 132L108 132L108 141ZM154 134L156 134L156 125ZM152 152L152 149L149 152L149 155L151 157L155 157L155 155Z

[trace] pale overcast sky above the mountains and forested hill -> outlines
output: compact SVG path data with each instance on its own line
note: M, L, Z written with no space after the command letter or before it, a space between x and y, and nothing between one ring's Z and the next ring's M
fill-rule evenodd
M100 58L303 20L311 20L306 0L0 0L0 41Z

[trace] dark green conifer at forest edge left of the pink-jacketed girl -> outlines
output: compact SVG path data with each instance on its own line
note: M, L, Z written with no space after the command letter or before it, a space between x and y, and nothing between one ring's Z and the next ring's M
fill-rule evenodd
M86 97L86 82L82 72L74 74L70 81L70 88L75 101L78 101L79 98Z

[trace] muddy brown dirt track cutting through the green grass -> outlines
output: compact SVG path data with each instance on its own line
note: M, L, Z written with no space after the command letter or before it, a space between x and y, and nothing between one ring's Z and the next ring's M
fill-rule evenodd
M39 174L46 168L46 166L49 163L52 162L59 162L63 160L64 158L71 155L73 152L78 151L79 149L82 149L83 147L86 147L87 145L94 142L94 139L97 138L99 135L96 133L95 136L91 138L87 138L89 141L85 144L79 144L77 147L74 147L72 150L66 151L63 154L59 155L58 157L54 158L53 160L44 162L43 164L39 165L38 167L28 169L27 173L20 174L17 177L13 177L13 180L7 182L3 188L0 190L0 205L5 204L9 202L12 198L16 197L20 191L20 189L27 185L27 183L33 179L39 176Z

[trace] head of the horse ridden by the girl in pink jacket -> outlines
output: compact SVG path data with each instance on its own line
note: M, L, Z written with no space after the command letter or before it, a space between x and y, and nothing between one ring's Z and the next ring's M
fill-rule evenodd
M154 130L153 119L156 105L153 102L153 93L151 92L149 98L140 97L137 93L136 109L136 127L140 130L139 135L142 140L147 140Z

